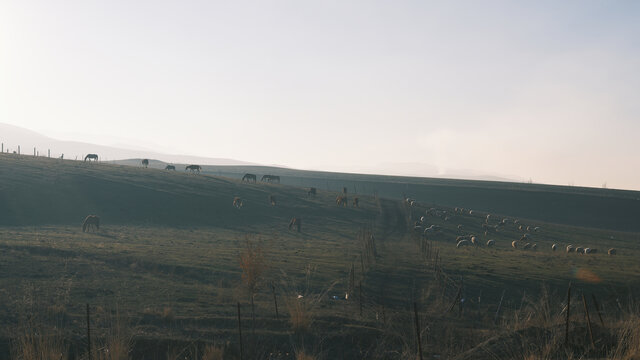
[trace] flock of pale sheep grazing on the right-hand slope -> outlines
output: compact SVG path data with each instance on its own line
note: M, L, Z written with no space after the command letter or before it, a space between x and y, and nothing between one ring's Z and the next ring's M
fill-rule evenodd
M406 199L407 205L415 206L415 200ZM457 215L468 215L473 216L473 210L468 210L464 208L456 207L453 210L454 214ZM437 216L445 221L449 221L450 217L446 210L439 210L435 208L430 208L426 210L426 215ZM519 240L514 240L511 242L511 247L514 249L522 249L522 250L537 250L538 244L532 241L532 236L530 232L538 232L541 230L539 226L527 226L520 224L519 220L510 220L509 218L498 219L497 223L491 225L490 222L495 219L495 215L488 214L486 215L485 221L482 223L482 231L484 235L487 236L490 232L498 232L501 228L504 228L508 224L513 224L517 226L517 229L523 232L522 237ZM441 227L438 225L426 225L427 219L425 216L421 216L418 221L414 223L414 231L421 231L423 237L428 238L432 235L435 235L436 232L441 230ZM464 226L459 224L457 226L459 232L464 232ZM494 247L496 245L496 241L493 239L487 240L486 243L482 244L480 242L479 237L473 234L461 235L456 237L456 248L462 248L466 246L486 246L488 248ZM551 245L551 250L556 251L558 249L558 244ZM567 245L567 253L577 253L577 254L595 254L598 252L598 249L591 247L574 247L573 245ZM609 255L617 254L617 249L611 248L607 251Z

